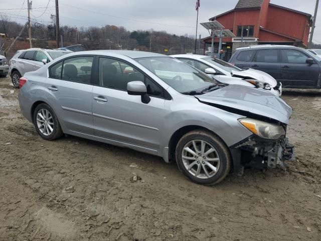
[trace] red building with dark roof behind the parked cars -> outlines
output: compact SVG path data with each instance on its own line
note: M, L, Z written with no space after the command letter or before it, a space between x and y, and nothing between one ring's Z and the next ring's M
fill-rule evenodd
M231 30L236 38L224 38L224 59L230 58L233 50L258 44L284 44L307 46L312 16L270 3L270 0L239 0L236 7L210 19L219 21ZM206 48L211 46L211 37L203 39ZM218 49L215 38L215 50Z

